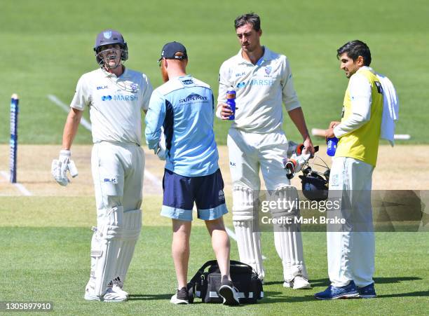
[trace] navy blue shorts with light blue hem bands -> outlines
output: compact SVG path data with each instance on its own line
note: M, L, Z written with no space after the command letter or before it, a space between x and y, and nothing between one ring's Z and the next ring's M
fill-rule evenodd
M218 169L202 177L184 177L165 169L163 178L163 209L161 215L170 219L192 221L195 202L198 219L219 219L228 213L225 204L224 180Z

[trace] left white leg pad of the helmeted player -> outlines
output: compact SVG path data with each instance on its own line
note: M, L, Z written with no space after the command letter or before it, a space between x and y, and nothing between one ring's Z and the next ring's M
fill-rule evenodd
M122 233L123 207L113 207L106 211L97 228L94 228L90 281L86 289L91 295L104 295L109 282L113 280Z

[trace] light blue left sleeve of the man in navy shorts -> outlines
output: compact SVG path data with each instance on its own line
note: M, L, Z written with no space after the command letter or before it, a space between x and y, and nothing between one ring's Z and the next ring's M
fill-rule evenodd
M161 126L165 120L165 98L160 93L154 91L149 102L149 109L145 117L146 130L144 135L149 149L158 149L158 142L161 137Z

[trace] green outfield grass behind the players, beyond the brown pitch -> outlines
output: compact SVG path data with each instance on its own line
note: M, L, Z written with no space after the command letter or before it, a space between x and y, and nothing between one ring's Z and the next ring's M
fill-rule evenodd
M189 51L189 72L214 88L220 64L238 52L233 19L246 11L261 15L261 38L292 62L294 83L309 128L324 128L339 118L347 80L339 70L336 48L362 39L372 49L374 69L388 75L400 96L397 133L407 143L428 143L425 104L428 71L421 64L429 43L429 6L425 0L355 1L353 6L325 1L3 1L0 38L4 82L0 90L0 143L8 142L9 99L21 97L20 142L58 144L66 114L50 102L53 94L69 103L83 72L95 69L92 47L101 29L123 32L130 48L128 66L161 84L156 60L167 41L182 41ZM88 118L88 113L86 113ZM291 139L299 139L286 120ZM217 142L226 142L229 123L215 122ZM91 142L83 128L76 143Z

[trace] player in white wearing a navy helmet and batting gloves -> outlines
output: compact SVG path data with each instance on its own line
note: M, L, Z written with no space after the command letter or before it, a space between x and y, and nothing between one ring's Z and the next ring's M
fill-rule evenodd
M152 86L146 75L126 69L128 46L121 33L97 35L95 56L100 68L83 74L71 101L53 176L67 186L67 170L77 173L70 147L86 107L92 123L91 165L97 203L97 227L91 242L88 301L120 302L128 298L123 282L142 228L144 152L141 111L147 111Z

